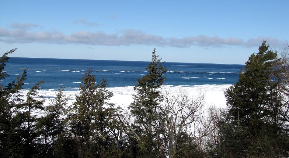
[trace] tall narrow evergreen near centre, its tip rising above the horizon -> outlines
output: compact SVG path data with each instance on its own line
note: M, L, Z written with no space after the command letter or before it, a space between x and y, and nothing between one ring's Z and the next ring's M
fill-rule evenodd
M162 66L164 62L158 59L155 49L151 54L151 63L146 68L148 74L138 79L134 86L137 94L133 95L134 102L129 107L135 117L134 129L141 138L137 146L141 153L137 154L158 157L163 154L161 137L164 135L164 120L161 118L164 112L161 102L164 97L159 88L165 81L163 73L167 69Z

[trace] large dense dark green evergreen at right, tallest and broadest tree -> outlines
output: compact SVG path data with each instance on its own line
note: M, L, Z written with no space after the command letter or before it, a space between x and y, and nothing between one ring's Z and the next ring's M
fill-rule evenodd
M229 111L220 125L225 157L277 156L284 154L279 149L286 151L288 146L277 145L282 104L273 74L280 59L268 48L264 41L259 52L249 57L239 81L225 92Z

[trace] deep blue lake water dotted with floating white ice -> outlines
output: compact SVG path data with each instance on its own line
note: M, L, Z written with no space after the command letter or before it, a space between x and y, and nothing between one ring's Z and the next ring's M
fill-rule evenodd
M150 62L84 60L84 59L47 59L12 57L6 63L5 70L10 75L1 84L22 74L27 69L24 89L30 88L39 81L43 89L77 88L82 76L91 68L96 75L96 82L106 79L109 87L136 85L138 78L146 75L146 66ZM165 62L168 73L164 74L167 85L193 86L202 84L234 84L238 81L240 69L244 65L208 64L208 63L172 63Z

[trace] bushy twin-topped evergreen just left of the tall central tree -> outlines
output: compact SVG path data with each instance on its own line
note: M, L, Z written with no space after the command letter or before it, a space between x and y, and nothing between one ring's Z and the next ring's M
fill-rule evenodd
M108 103L113 96L106 89L106 80L95 84L95 75L88 70L79 86L80 95L76 96L70 114L71 132L77 140L78 155L81 157L105 157L111 153L115 141L110 130L114 130L113 116L117 111L114 104Z

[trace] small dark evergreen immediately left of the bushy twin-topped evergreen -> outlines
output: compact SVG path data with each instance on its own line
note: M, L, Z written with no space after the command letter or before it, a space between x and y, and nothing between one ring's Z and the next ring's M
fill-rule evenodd
M37 122L38 133L43 143L40 153L45 157L66 157L70 153L64 146L68 136L66 127L68 97L63 91L64 88L57 90L56 98L46 107L47 115Z

